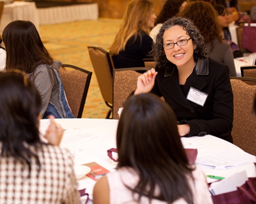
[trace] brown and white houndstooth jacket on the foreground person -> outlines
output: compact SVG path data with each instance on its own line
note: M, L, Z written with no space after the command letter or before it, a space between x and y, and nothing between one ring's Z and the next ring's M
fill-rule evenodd
M70 152L48 144L29 148L41 164L38 173L31 158L30 178L25 162L0 156L0 203L80 203Z

